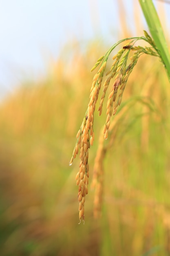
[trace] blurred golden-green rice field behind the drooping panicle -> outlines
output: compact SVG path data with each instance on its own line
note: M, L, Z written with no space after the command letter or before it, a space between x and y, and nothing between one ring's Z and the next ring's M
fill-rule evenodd
M91 67L108 45L96 40L83 53L75 42L69 49L69 61L51 63L46 79L25 82L1 103L0 255L169 256L170 89L163 65L142 56L130 74L126 115L115 124L104 160L102 217L93 217L89 189L85 225L78 225L78 157L68 164L88 105ZM90 184L105 119L105 111L101 117L96 111Z

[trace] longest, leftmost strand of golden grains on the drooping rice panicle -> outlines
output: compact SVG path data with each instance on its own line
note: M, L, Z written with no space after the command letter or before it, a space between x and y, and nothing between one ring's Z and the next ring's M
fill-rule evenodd
M80 148L80 164L79 172L76 175L76 185L79 186L78 189L78 202L79 202L79 220L84 221L84 202L85 196L88 193L88 176L89 176L89 166L88 166L88 149L90 145L93 145L94 141L94 112L95 104L98 99L99 90L101 88L103 73L106 68L106 61L104 61L99 68L97 74L93 78L93 83L91 86L90 101L88 103L88 108L86 115L84 117L83 123L80 130L77 133L77 142L73 150L73 156L71 158L70 164L73 163L73 159L78 153L78 148ZM80 223L79 222L79 223Z

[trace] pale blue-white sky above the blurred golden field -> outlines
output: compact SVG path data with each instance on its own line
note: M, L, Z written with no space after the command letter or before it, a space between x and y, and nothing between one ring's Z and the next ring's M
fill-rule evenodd
M134 0L122 3L133 29ZM107 36L111 46L118 20L117 0L0 0L0 98L24 78L43 75L50 56L56 59L73 38Z

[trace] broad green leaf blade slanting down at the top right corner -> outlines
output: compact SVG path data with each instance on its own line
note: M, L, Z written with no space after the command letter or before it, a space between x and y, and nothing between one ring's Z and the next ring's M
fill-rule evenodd
M139 0L139 3L148 24L150 34L152 35L155 45L159 50L162 61L166 67L168 78L170 80L170 53L168 51L168 46L163 34L161 22L159 21L159 17L157 15L157 11L152 3L152 0Z

